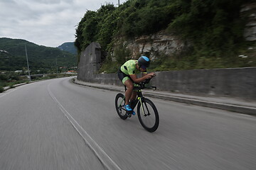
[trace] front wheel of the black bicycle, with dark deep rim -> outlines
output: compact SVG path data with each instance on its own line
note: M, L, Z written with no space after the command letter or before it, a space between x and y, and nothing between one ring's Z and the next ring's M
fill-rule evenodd
M137 107L139 123L149 132L154 132L159 127L159 114L154 103L147 98L142 99Z

